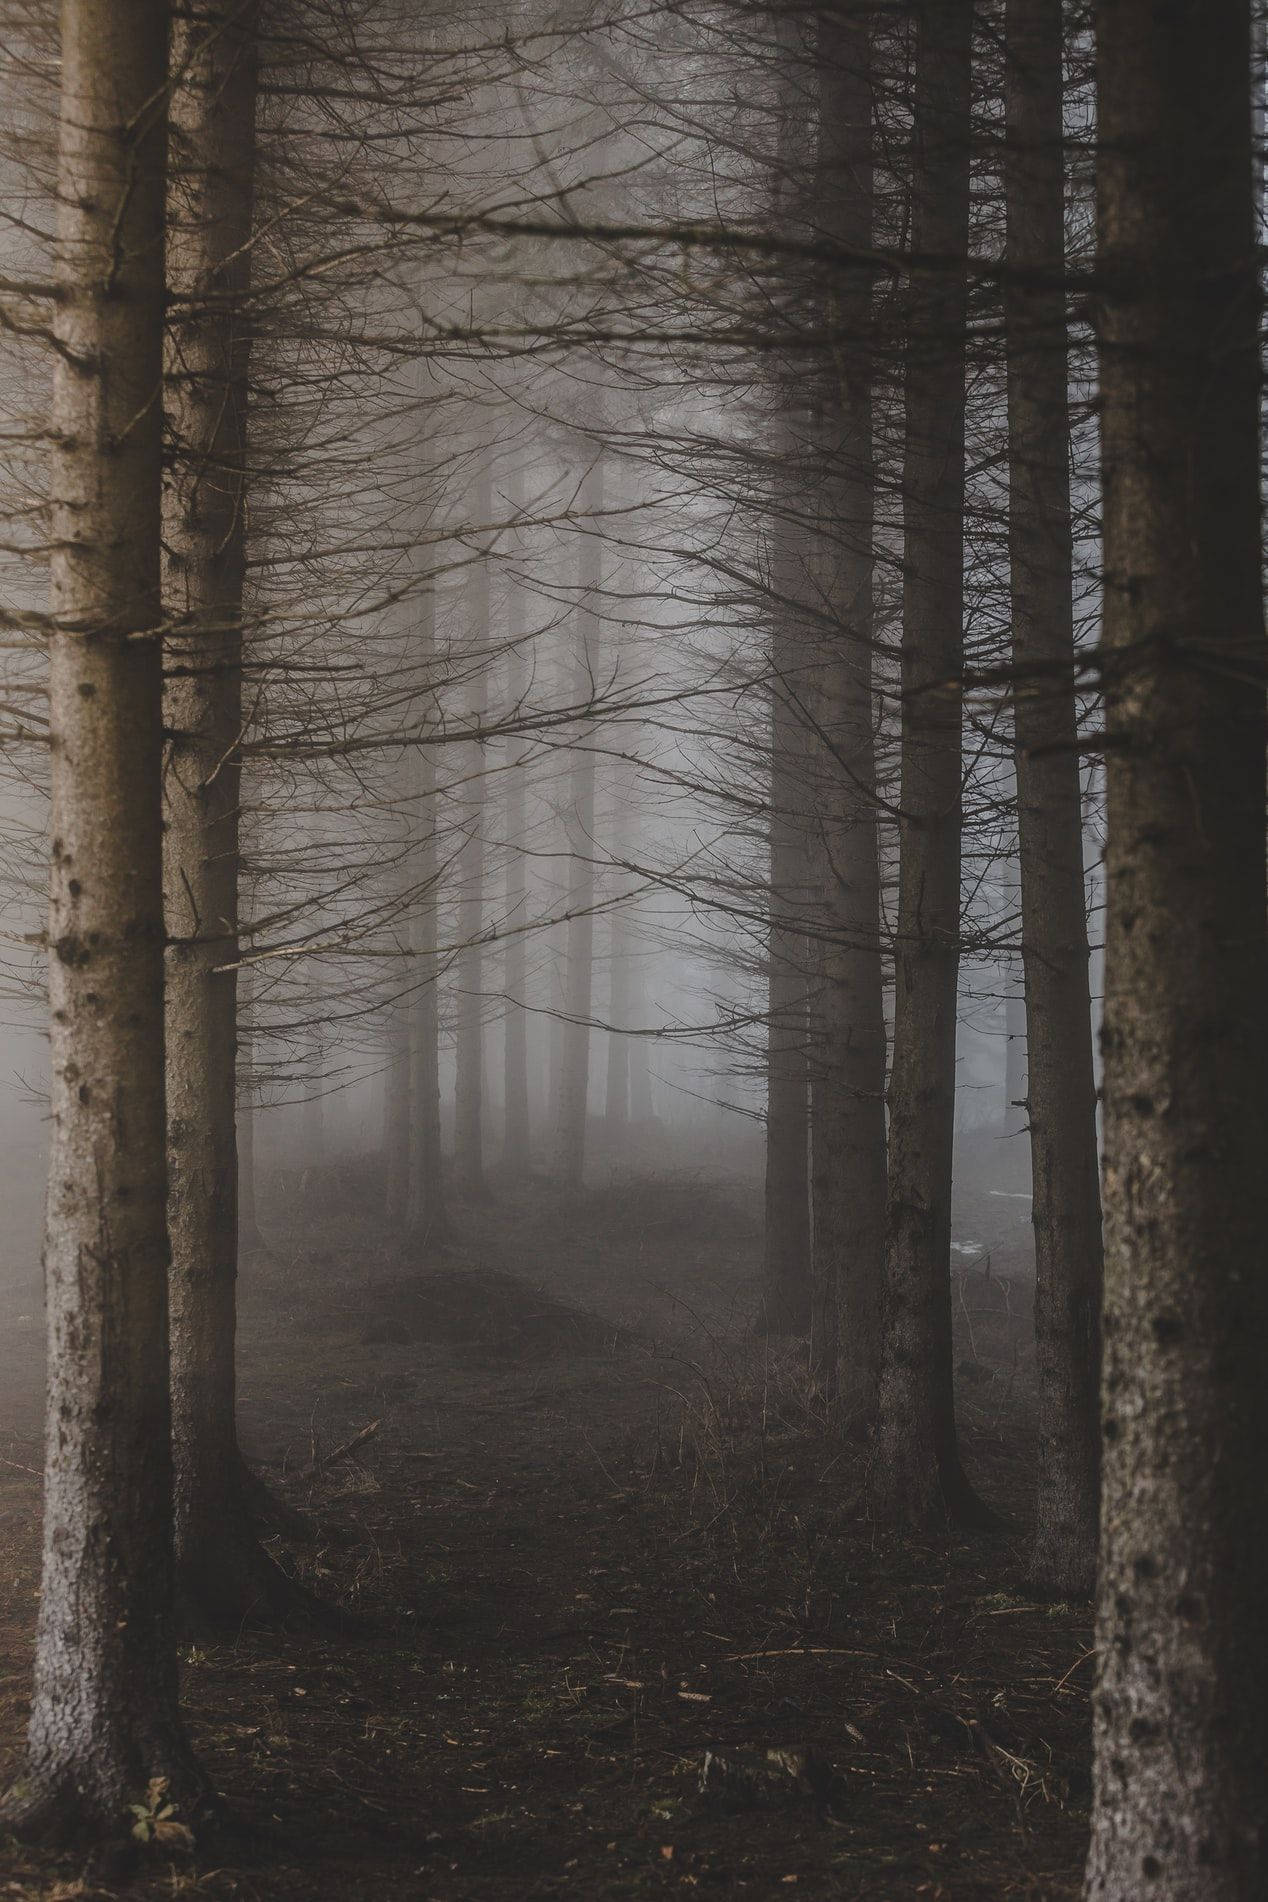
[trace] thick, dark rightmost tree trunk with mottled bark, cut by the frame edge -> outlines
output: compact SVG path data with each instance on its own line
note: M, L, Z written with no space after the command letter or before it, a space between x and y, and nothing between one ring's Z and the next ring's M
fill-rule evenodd
M1268 1892L1268 1023L1251 10L1095 8L1105 1499L1093 1902Z

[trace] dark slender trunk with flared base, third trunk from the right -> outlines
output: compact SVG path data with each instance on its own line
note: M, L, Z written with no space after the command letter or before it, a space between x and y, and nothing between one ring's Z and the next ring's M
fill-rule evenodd
M960 962L964 671L964 350L971 0L916 15L913 272L903 462L903 763L888 1324L873 1459L878 1512L971 1516L951 1343L951 1166Z

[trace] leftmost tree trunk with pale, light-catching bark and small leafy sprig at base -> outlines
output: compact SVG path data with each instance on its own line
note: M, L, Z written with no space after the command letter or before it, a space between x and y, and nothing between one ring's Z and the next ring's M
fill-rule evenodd
M125 1834L203 1797L177 1710L160 453L167 10L67 0L49 432L51 1137L44 1571L0 1820Z

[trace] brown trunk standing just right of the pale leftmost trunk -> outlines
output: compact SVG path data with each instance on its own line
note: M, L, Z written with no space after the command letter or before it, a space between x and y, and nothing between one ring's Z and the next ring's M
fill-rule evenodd
M167 1227L177 1565L217 1622L287 1600L245 1504L236 1428L241 607L257 21L173 27L163 493Z

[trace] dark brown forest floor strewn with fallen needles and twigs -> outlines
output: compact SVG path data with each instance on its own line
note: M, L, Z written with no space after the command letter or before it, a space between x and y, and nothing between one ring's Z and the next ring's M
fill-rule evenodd
M241 1837L108 1885L0 1839L0 1896L1076 1896L1091 1640L1021 1586L1023 1200L970 1210L1002 1242L989 1269L962 1242L956 1276L968 1459L1019 1529L897 1544L804 1358L749 1331L751 1189L536 1183L409 1255L375 1187L279 1181L241 1354L243 1444L274 1480L380 1423L291 1489L317 1537L283 1554L373 1622L186 1647ZM0 1780L38 1584L38 1288L6 1309Z

